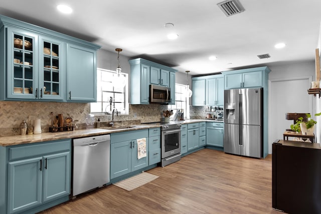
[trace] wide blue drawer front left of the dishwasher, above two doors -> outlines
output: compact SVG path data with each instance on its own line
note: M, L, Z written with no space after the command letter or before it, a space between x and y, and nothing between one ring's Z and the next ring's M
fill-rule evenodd
M59 141L47 141L43 143L33 143L28 145L19 145L9 148L9 160L27 158L33 156L42 156L48 153L65 151L71 149L71 139Z

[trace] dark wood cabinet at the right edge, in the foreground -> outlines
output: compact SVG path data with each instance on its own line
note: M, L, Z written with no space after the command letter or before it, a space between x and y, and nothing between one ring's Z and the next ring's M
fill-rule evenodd
M272 207L287 213L321 213L321 146L276 140L272 144Z

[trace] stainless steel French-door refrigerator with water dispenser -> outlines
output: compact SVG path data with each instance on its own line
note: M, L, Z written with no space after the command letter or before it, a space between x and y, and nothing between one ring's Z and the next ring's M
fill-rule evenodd
M263 88L224 91L224 152L263 157Z

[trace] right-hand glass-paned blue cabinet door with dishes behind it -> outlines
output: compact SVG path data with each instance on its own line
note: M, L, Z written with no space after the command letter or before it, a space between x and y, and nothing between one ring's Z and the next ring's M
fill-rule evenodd
M39 99L63 100L63 42L39 37Z

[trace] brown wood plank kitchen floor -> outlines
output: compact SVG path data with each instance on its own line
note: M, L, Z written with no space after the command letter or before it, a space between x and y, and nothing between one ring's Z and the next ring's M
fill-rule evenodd
M108 185L42 213L281 213L272 208L272 158L203 149L147 172L159 178L126 191Z

